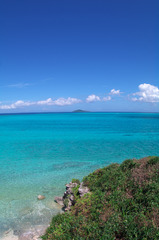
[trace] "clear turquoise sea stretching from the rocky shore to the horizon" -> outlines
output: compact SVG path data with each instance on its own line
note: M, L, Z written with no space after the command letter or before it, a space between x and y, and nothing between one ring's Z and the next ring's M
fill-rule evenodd
M0 115L0 234L48 224L72 178L159 156L157 113ZM44 194L46 199L37 200Z

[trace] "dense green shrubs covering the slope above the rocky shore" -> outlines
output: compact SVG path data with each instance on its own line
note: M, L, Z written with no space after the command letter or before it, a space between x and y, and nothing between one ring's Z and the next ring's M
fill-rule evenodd
M91 193L53 217L43 240L159 239L159 157L126 160L83 179Z

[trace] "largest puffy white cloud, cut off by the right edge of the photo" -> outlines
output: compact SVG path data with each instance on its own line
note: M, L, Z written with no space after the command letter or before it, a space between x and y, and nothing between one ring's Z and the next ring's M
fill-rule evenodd
M140 84L138 86L139 88L139 92L134 93L134 97L132 98L132 101L143 101L143 102L159 102L159 88L151 85L151 84L147 84L147 83L143 83Z

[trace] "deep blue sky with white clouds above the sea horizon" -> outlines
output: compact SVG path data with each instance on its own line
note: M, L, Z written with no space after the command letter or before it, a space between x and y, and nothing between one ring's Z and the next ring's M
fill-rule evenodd
M1 0L0 113L159 112L158 0Z

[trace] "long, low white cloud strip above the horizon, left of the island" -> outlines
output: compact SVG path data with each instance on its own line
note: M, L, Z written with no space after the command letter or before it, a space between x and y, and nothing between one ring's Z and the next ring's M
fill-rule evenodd
M22 108L22 107L28 107L31 105L57 105L57 106L65 106L65 105L72 105L75 103L81 102L80 99L77 98L58 98L57 100L52 100L51 98L48 98L43 101L37 101L37 102L24 102L22 100L18 100L15 103L12 103L10 105L0 105L0 109L16 109L16 108Z

